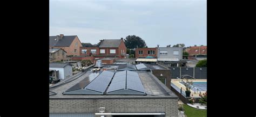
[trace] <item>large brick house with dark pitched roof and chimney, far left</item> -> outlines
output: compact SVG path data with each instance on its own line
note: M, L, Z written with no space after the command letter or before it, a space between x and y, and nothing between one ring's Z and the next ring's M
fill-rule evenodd
M68 56L79 56L80 47L82 47L82 43L77 35L64 36L63 34L60 34L57 36L49 36L49 49L61 48L65 50Z

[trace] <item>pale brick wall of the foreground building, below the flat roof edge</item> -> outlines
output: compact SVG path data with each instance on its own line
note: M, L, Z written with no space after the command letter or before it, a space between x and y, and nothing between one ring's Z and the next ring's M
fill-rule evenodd
M178 99L50 99L49 113L165 112L166 117L178 116Z

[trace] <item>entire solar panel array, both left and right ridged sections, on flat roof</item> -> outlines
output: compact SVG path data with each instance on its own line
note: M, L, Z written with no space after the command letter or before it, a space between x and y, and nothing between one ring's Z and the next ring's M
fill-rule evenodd
M63 94L146 95L138 73L127 70L103 71L92 81L85 78Z

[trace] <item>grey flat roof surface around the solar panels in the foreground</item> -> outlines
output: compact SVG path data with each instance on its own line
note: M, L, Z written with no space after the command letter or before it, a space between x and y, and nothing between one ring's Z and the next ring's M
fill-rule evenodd
M50 99L119 99L119 98L178 98L174 92L172 92L168 87L159 81L159 79L154 76L151 72L147 71L134 71L138 72L139 78L143 84L144 90L147 93L146 96L140 95L66 95L62 94L70 87L80 83L80 81L91 81L92 78L95 78L99 75L98 72L92 72L91 70L87 71L82 76L77 79L53 87L49 89L52 92L57 94L50 96ZM154 96L155 95L155 96Z

